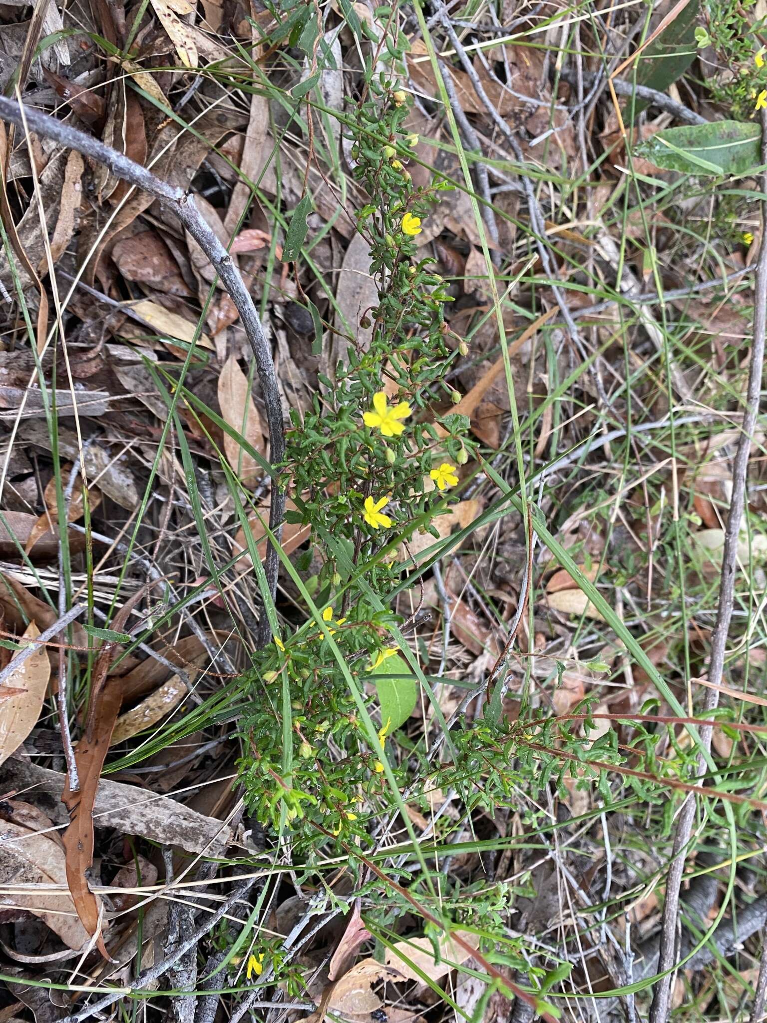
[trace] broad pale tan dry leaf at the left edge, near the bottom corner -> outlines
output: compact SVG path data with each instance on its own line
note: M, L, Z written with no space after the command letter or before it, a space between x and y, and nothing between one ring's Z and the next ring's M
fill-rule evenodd
M48 826L53 828L52 821ZM3 842L0 845L0 883L3 888L39 885L31 890L3 896L5 908L26 909L39 917L70 948L80 949L88 940L85 928L78 920L72 896L63 891L46 891L47 886L62 888L66 884L64 852L49 835L3 821Z

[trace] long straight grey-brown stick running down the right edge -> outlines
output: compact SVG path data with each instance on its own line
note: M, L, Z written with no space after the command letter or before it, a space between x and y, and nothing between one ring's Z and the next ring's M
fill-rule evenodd
M767 112L762 110L762 165L767 164ZM761 175L762 191L767 192L767 170ZM762 209L762 223L767 225L767 215ZM735 598L735 569L737 567L737 543L740 534L740 522L746 504L746 480L749 471L749 455L754 431L759 414L759 398L762 388L762 372L764 367L764 342L767 327L767 230L762 231L762 243L759 251L759 263L754 285L754 340L749 366L749 385L746 396L746 409L742 428L737 441L737 450L732 463L732 496L730 498L727 525L724 532L724 549L722 551L722 574L719 581L719 608L714 632L711 637L711 664L709 681L712 688L707 688L704 701L704 716L710 716L719 703L719 686L724 673L724 658L727 649L730 620ZM701 728L701 750L697 755L697 773L706 770L706 754L711 748L711 726ZM679 814L676 834L674 836L673 860L666 880L666 899L663 907L663 923L661 929L661 951L658 961L658 972L671 970L676 958L676 930L679 916L679 887L684 870L684 850L687 848L692 832L692 821L695 812L695 801L689 796ZM673 973L663 977L656 985L652 1004L649 1010L649 1023L666 1023L669 1013L671 984Z

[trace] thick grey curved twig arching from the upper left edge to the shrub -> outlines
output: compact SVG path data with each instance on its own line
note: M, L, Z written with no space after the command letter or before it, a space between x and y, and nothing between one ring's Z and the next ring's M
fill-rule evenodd
M186 230L191 234L218 274L221 283L237 308L242 327L253 350L256 369L261 382L261 390L266 406L269 425L269 442L271 461L276 464L282 461L285 453L285 434L282 420L282 405L277 387L277 374L274 369L271 348L266 339L263 324L259 319L251 293L245 287L237 265L231 255L224 249L215 232L197 209L192 195L182 188L177 188L161 180L145 167L130 160L117 149L104 145L96 138L78 131L71 125L57 121L47 114L41 114L31 106L25 105L24 112L18 103L5 96L0 96L0 118L9 124L22 126L25 121L29 128L45 138L76 149L84 157L95 160L109 168L111 173L142 188L157 198L168 210L174 213ZM285 496L276 484L272 485L271 506L269 511L269 528L279 541L281 536L282 518L285 509ZM277 573L279 560L276 548L270 543L266 557L266 578L272 599L277 590ZM266 615L262 615L259 624L258 644L265 646L271 637Z

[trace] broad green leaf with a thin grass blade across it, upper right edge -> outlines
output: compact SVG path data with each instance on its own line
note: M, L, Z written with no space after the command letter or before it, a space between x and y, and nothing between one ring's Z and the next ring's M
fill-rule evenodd
M668 128L634 146L634 155L665 171L727 176L747 174L760 163L759 125L712 121Z

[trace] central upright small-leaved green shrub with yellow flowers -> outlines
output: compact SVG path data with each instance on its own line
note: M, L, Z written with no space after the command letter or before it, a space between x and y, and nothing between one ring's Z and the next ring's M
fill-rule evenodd
M445 283L418 251L447 185L413 185L407 166L417 137L404 127L407 113L397 83L370 74L351 151L369 196L358 230L370 247L377 304L351 324L347 358L332 379L320 375L312 407L303 417L292 411L279 466L279 485L296 505L287 522L309 526L322 551L308 583L322 622L308 609L308 622L258 656L254 710L242 722L247 802L265 825L288 828L295 848L306 852L366 835L367 818L391 806L360 700L369 706L376 686L380 699L388 668L409 672L391 634L401 619L381 608L407 564L408 539L430 529L439 536L432 519L454 500L459 466L472 450L468 419L452 411L456 393L447 382L465 346L443 315ZM401 723L387 714L376 726L379 742Z

